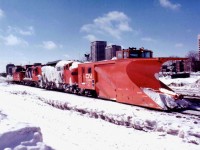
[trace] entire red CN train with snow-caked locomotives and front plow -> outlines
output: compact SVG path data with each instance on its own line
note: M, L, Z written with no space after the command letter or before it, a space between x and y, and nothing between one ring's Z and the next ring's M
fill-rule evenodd
M117 51L116 59L98 62L56 61L42 65L6 66L9 80L46 89L94 96L160 110L185 107L184 99L158 80L156 73L169 60L151 50Z

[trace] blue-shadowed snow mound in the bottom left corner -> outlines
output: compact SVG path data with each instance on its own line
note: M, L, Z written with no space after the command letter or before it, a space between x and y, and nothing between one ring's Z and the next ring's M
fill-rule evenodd
M11 121L1 111L0 129L1 150L52 150L43 143L39 127Z

